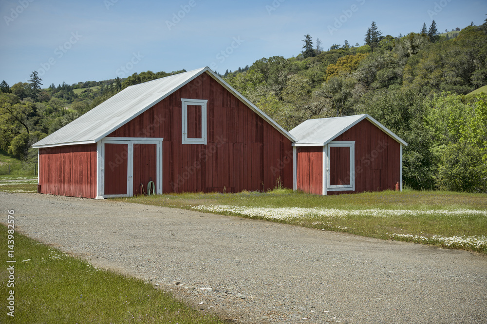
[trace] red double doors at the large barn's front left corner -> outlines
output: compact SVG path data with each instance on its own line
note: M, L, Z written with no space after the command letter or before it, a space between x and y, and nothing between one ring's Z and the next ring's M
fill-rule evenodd
M103 140L101 146L104 197L147 193L150 181L162 193L162 141Z

